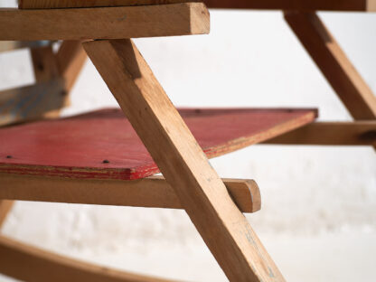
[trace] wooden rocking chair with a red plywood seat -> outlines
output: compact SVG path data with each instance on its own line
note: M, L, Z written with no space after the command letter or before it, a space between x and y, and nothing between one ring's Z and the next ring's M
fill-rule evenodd
M24 46L24 41L30 44L63 40L57 53L52 52L50 44L34 48L37 84L5 91L6 99L0 100L5 108L20 104L16 108L22 108L19 115L8 114L14 110L0 111L0 115L8 117L4 125L49 118L0 129L0 199L7 200L0 204L0 222L11 208L9 200L184 209L230 281L284 281L241 214L259 210L257 184L251 180L221 179L207 157L261 142L359 145L362 139L362 144L374 145L374 136L370 139L370 132L375 131L374 121L361 122L364 133L358 122L356 127L309 126L317 116L315 109L176 110L130 38L209 33L206 6L182 2L185 1L23 0L19 9L0 10L1 41L21 41L13 46ZM370 0L362 5L350 0L338 5L324 0L307 6L303 0L290 6L288 3L206 1L210 7L221 8L372 8ZM318 20L312 13L288 12L287 19L290 24L293 19L304 21L305 28L320 38L322 33L315 30ZM307 32L301 33L303 37ZM104 109L51 119L56 110L66 105L85 59L81 42L121 110ZM320 52L324 50L336 62L334 67L348 77L343 67L346 61L338 61L329 48L332 45L328 47L324 39L317 44L321 44ZM42 89L48 91L40 95L41 84L46 83ZM0 99L5 94L0 93ZM359 98L361 94L351 95ZM32 100L36 102L31 103ZM52 110L54 114L46 114ZM324 141L317 141L315 133L324 127L330 127ZM348 133L350 127L352 135ZM335 136L341 138L333 137L333 128L339 132ZM305 139L306 136L311 137ZM164 177L152 176L158 172ZM26 281L166 281L63 258L5 237L0 237L0 272Z

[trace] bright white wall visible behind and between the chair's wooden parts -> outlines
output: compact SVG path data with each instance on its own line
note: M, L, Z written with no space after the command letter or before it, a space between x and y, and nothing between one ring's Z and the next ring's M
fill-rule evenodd
M321 15L376 92L376 14ZM175 105L317 107L320 119L350 119L279 12L211 11L210 35L136 44ZM0 54L0 89L33 82L29 57ZM64 115L108 106L117 105L88 61ZM251 146L211 164L222 177L258 181L263 208L247 218L287 281L371 282L375 156L368 147ZM17 202L3 232L106 266L226 281L183 211Z

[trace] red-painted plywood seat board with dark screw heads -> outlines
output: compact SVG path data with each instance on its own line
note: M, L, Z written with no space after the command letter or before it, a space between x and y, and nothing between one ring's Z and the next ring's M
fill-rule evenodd
M208 157L225 155L302 127L315 109L180 109ZM0 172L132 180L159 169L127 118L108 108L0 130Z

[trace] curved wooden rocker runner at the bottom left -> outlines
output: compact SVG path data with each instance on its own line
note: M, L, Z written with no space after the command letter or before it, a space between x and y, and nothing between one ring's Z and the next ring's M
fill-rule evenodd
M0 273L28 282L172 282L89 264L0 236Z

